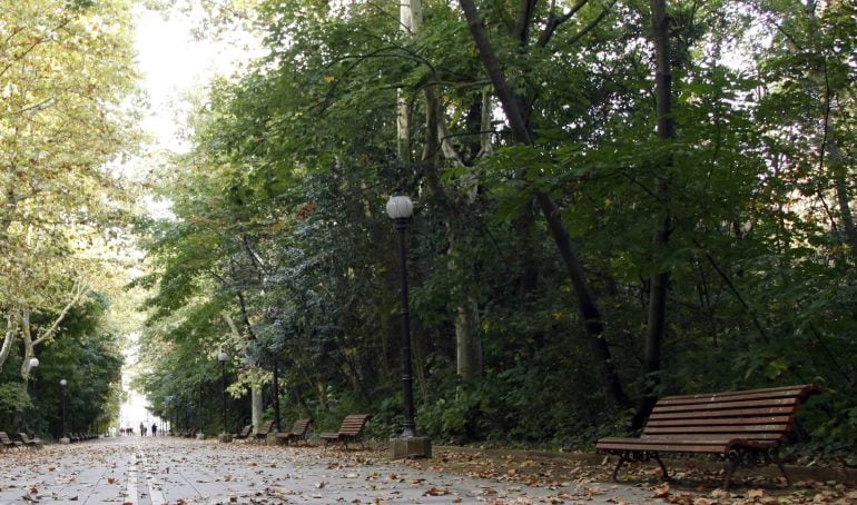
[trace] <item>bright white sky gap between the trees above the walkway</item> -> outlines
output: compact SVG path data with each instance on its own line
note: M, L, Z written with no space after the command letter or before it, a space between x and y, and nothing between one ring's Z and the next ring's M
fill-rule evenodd
M181 151L186 146L181 143L179 133L189 110L185 102L186 93L205 86L216 75L232 73L238 63L248 58L250 52L244 47L249 38L237 37L236 40L243 40L242 43L196 40L191 34L191 18L181 13L167 18L139 4L135 9L137 62L144 79L141 86L149 99L141 127L154 138L151 151ZM232 33L235 36L235 32ZM145 159L132 160L129 170L146 165ZM151 212L162 212L168 208L168 204L149 202L149 206ZM155 417L146 410L146 399L128 389L136 368L137 349L134 343L137 335L132 335L130 340L132 347L126 350L126 368L122 372L128 400L121 407L119 422L125 427L138 427L141 422L150 426Z

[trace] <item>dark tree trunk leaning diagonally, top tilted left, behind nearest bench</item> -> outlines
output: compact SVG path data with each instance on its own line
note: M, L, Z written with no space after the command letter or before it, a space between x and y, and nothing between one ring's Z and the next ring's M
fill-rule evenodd
M494 53L485 28L479 17L475 3L473 0L459 0L459 2L464 11L471 36L476 44L482 63L485 66L491 83L494 87L494 91L503 108L503 112L512 129L515 141L521 145L533 146L533 137L526 123L528 115L521 109L522 100L519 99L520 97L515 96L506 82L505 73L500 65L500 60ZM583 274L583 266L580 257L572 246L564 222L562 222L562 217L560 216L556 202L550 195L541 191L535 195L535 198L542 210L542 215L548 221L551 236L565 264L571 285L577 294L578 313L583 320L587 337L595 355L597 366L601 372L602 387L604 388L608 398L614 405L627 405L628 397L622 389L619 374L615 370L615 364L611 358L610 348L604 338L604 325L601 320L601 313L598 308L594 294L590 289L589 283Z

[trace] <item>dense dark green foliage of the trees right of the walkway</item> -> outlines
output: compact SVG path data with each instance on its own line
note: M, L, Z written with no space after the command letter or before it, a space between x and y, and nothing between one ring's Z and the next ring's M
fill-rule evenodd
M265 2L270 55L213 83L193 118L193 152L161 175L175 218L146 230L154 270L142 283L155 310L141 387L155 408L179 425L218 426L187 392L216 402L211 349L224 347L234 356L229 423L246 417L249 384L269 392L276 359L286 425L309 416L335 428L361 410L375 414L375 436L394 435L401 279L383 206L401 191L417 200L406 234L417 428L456 443L564 447L625 430L630 412L607 407L567 266L534 218L533 196L544 192L560 206L631 396L651 385L672 394L819 383L830 393L807 406L805 427L826 450L847 447L857 279L840 230L847 209L834 204L836 191L855 190L854 66L837 49L854 44L847 8L812 23L778 2L703 3L671 3L671 142L653 131L644 2L589 2L544 43L509 29L509 6L481 6L535 137L515 145L494 118L484 157L487 80L449 4L426 3L412 36L394 4ZM539 4L533 29L555 19L551 8ZM746 66L727 53L746 55ZM825 102L821 63L836 107ZM463 162L424 152L426 90ZM396 155L397 93L412 106L413 161ZM825 138L839 142L837 164L819 156ZM669 244L653 248L664 215ZM667 338L661 369L647 375L647 279L660 271L671 278ZM484 366L462 380L455 320L470 303Z

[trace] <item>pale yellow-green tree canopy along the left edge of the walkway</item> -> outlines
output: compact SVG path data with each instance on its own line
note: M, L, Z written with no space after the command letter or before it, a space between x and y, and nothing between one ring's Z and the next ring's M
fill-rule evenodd
M4 382L4 392L23 386L22 395L4 395L3 408L20 413L30 403L30 358L45 347L42 356L63 362L42 359L46 377L65 370L69 384L85 386L86 369L98 368L104 379L76 395L81 428L118 407L105 402L118 384L118 337L99 325L75 329L72 319L98 318L109 303L91 300L121 283L111 275L121 271L130 198L110 164L136 143L126 106L136 82L129 8L124 0L0 2L0 368L7 379L11 363L20 368L21 384ZM62 349L50 346L55 339ZM78 379L71 363L81 367ZM59 433L57 412L31 427L50 422Z

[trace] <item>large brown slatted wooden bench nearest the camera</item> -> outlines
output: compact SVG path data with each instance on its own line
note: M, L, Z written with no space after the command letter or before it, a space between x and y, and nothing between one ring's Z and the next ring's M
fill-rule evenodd
M723 489L739 466L776 464L790 484L779 459L795 415L815 385L772 387L743 392L668 396L658 400L638 438L609 437L595 444L599 452L619 456L613 481L624 462L654 459L669 479L663 453L712 454L726 462Z

